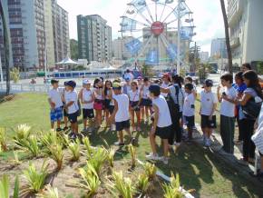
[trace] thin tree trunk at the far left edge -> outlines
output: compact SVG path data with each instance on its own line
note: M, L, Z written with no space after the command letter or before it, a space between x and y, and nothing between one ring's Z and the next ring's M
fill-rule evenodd
M8 34L8 28L5 21L5 13L4 13L4 7L2 4L2 0L0 0L0 16L2 19L2 25L3 25L3 38L4 38L4 60L5 60L5 75L6 75L6 95L10 93L10 71L9 71L9 34Z

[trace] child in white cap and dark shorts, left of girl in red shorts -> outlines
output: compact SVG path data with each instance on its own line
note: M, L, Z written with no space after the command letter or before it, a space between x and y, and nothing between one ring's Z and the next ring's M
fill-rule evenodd
M93 110L93 91L91 82L83 80L83 89L79 93L79 99L83 104L83 133L91 132L93 126L94 110ZM89 129L87 129L87 121L89 120Z

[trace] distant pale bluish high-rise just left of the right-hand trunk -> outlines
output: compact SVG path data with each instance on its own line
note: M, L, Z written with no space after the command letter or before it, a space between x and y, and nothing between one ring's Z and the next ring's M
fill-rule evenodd
M214 59L227 58L227 45L225 38L216 38L211 42L210 57Z

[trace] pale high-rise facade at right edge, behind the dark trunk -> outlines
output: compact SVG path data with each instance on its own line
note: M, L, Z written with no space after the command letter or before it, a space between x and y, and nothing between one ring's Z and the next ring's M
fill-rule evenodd
M262 0L228 0L230 46L234 64L263 61L262 8Z

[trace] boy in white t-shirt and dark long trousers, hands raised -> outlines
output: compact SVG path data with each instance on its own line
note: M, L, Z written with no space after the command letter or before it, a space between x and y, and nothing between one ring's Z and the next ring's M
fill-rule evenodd
M223 142L223 150L226 153L234 153L234 133L235 133L235 99L238 95L236 89L232 86L233 75L223 74L221 84L224 86L224 92L219 93L218 99L220 106L220 135Z

